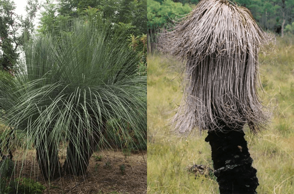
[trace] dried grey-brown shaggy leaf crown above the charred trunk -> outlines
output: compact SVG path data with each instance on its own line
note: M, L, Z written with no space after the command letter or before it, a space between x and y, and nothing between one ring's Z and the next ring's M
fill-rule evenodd
M245 7L202 0L159 38L159 50L186 61L186 88L173 118L179 133L241 130L257 133L268 121L256 92L258 53L274 43ZM273 44L272 44L273 45Z

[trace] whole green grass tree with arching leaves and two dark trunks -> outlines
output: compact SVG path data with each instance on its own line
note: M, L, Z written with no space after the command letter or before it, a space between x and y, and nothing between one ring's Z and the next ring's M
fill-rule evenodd
M0 74L0 122L34 142L45 179L85 174L94 146L108 143L108 120L122 139L132 140L131 127L146 144L146 76L137 73L126 33L100 17L71 22L70 30L27 44L17 76ZM61 139L69 140L63 169Z

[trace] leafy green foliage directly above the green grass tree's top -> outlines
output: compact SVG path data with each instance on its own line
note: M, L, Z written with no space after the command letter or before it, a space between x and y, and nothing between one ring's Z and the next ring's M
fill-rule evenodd
M145 0L58 0L57 3L47 1L42 5L39 32L58 31L59 22L80 17L81 14L102 14L119 26L131 28L130 33L138 36L145 34L146 1Z

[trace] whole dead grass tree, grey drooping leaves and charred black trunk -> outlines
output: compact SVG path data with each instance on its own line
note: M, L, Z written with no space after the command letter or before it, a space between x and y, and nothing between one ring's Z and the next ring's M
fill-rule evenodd
M245 123L253 133L268 115L257 94L258 53L270 43L245 7L227 0L203 0L186 18L161 34L160 48L186 61L183 102L175 131L208 130L220 193L256 193Z

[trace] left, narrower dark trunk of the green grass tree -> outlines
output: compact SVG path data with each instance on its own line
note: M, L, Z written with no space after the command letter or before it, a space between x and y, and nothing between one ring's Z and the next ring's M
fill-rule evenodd
M46 138L40 138L39 142L35 141L36 157L45 180L61 176L58 147L56 142L49 141L49 134L50 132L47 133Z

